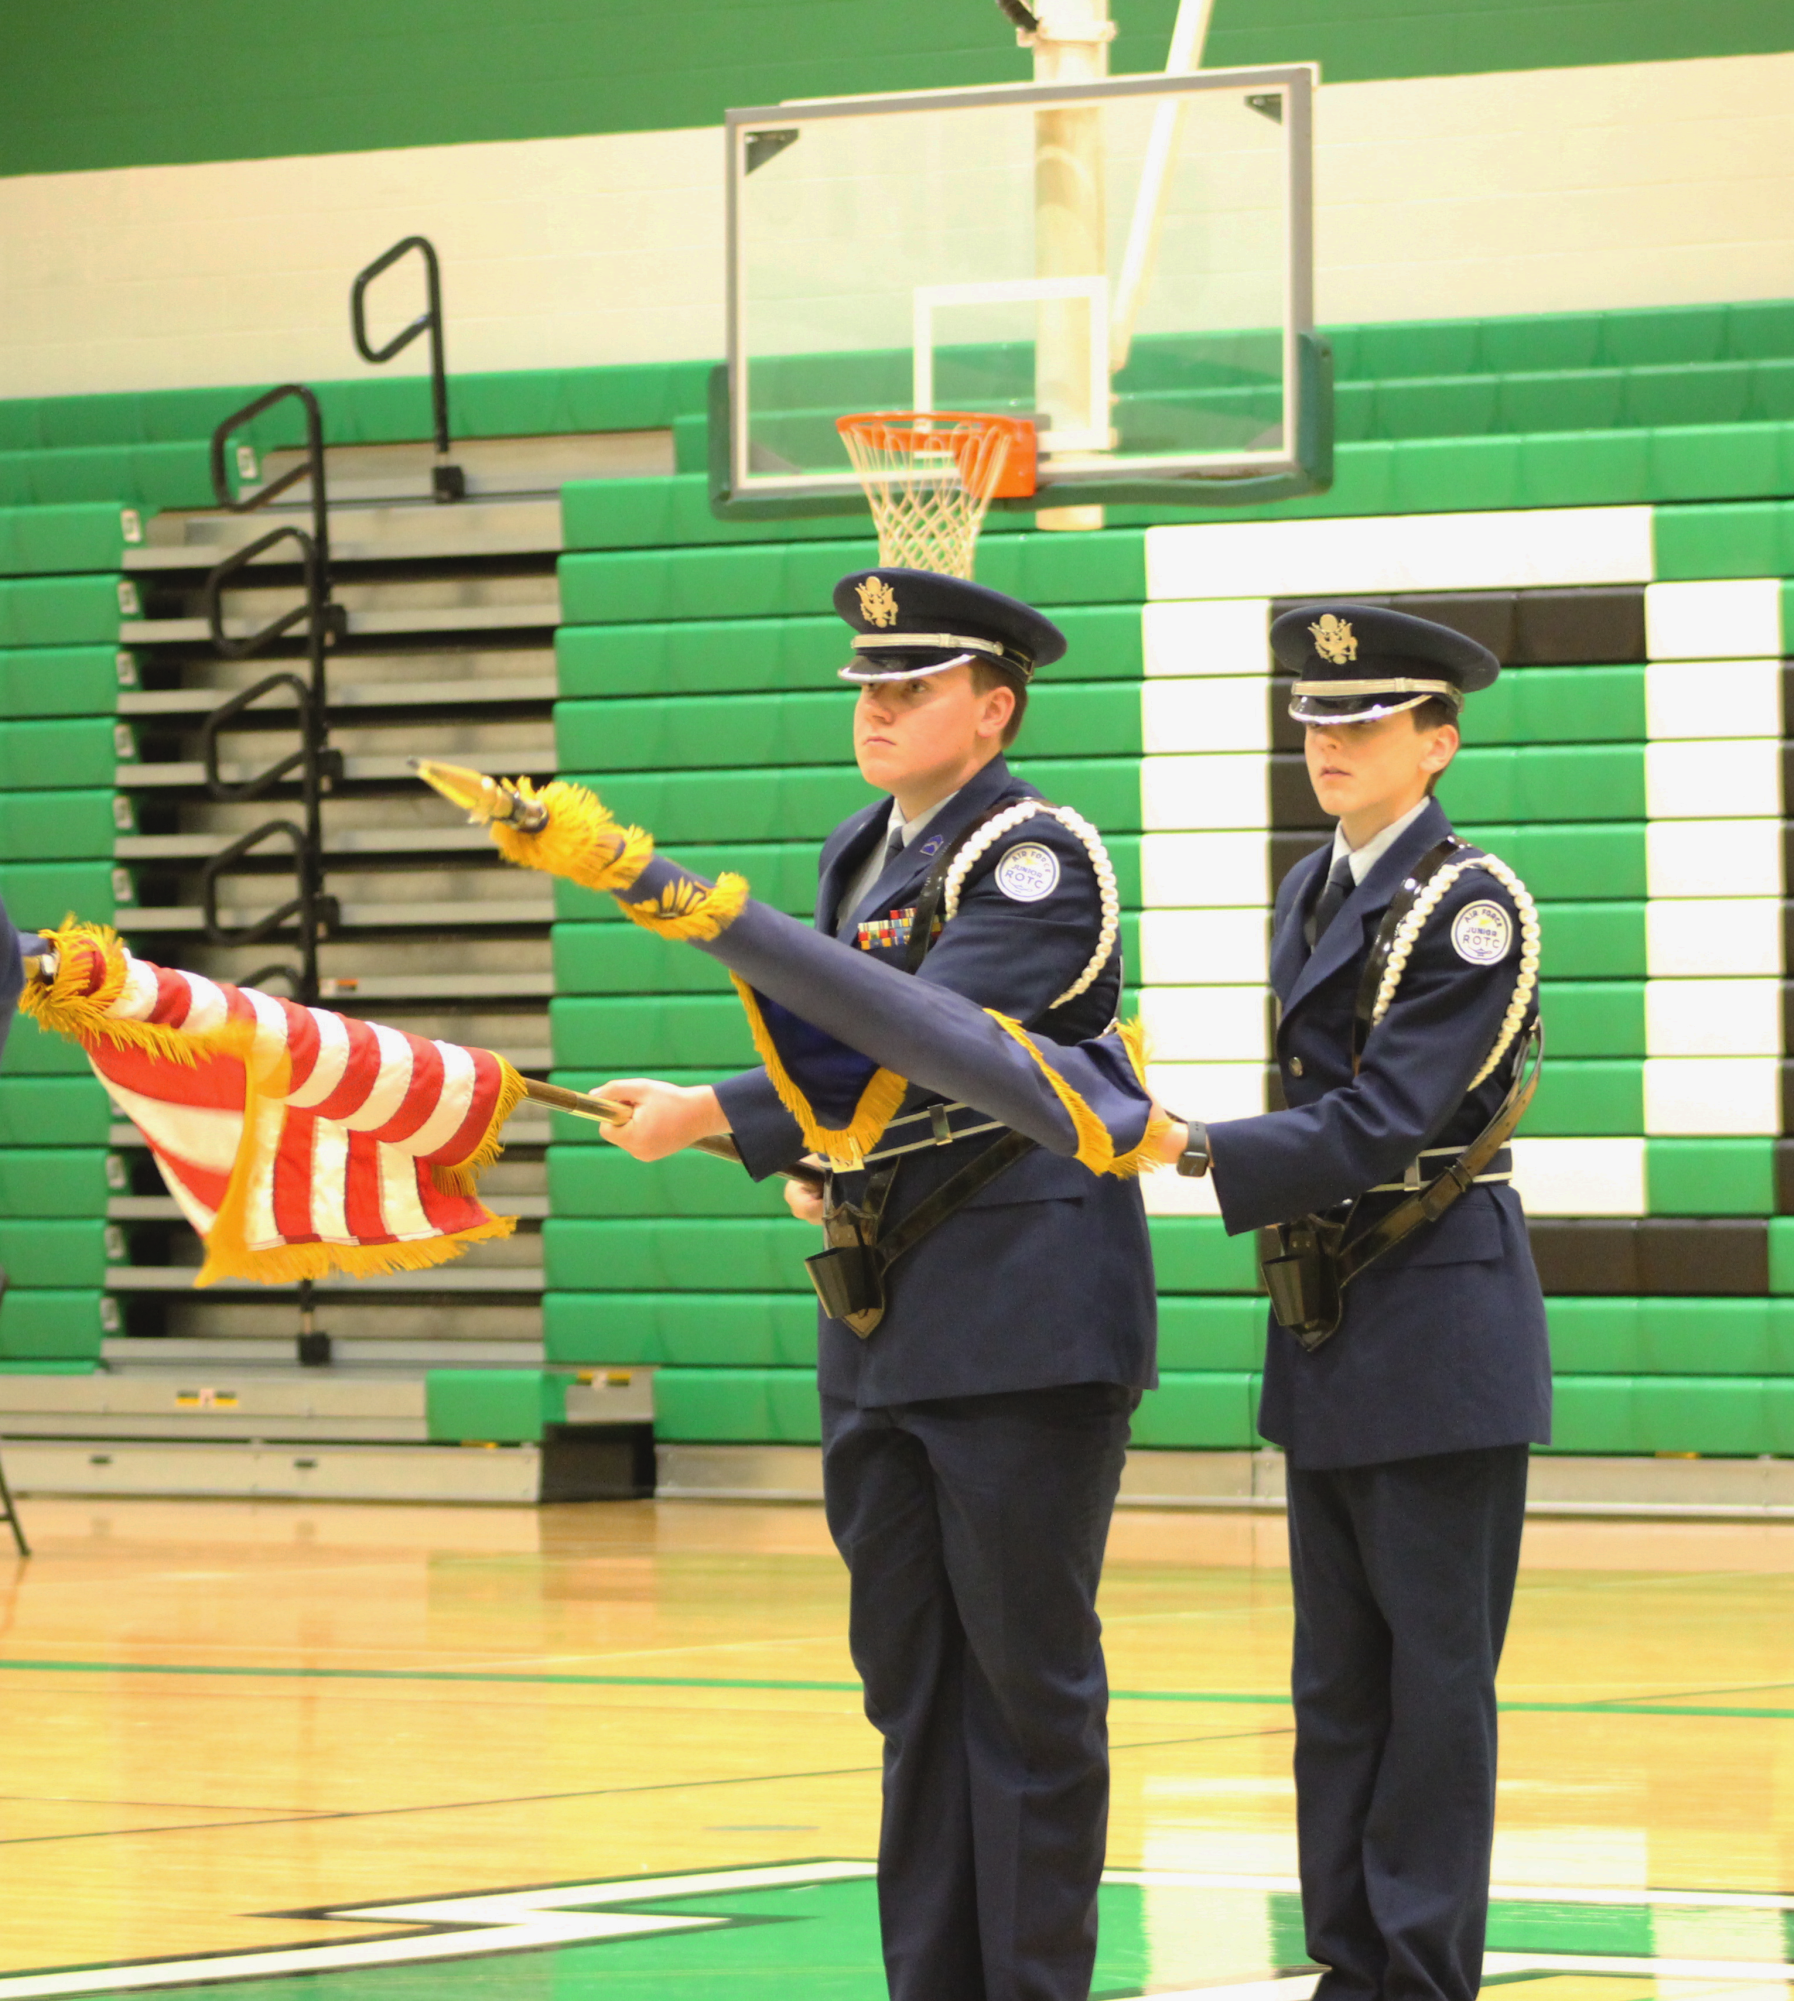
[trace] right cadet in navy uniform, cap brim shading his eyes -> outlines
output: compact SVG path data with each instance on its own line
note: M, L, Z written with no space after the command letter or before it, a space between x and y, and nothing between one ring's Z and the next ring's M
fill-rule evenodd
M1458 632L1362 604L1284 612L1272 650L1296 676L1290 714L1340 824L1276 900L1288 1111L1212 1125L1206 1143L1192 1127L1184 1171L1206 1151L1228 1231L1364 1197L1356 1237L1488 1127L1532 1019L1530 898L1508 870L1470 866L1426 916L1354 1077L1366 954L1450 834L1432 784L1464 694L1500 668ZM1544 1303L1508 1169L1494 1155L1438 1221L1368 1265L1312 1353L1270 1329L1260 1429L1288 1467L1296 1823L1320 2001L1472 2001L1482 1977L1494 1675L1528 1443L1550 1439Z

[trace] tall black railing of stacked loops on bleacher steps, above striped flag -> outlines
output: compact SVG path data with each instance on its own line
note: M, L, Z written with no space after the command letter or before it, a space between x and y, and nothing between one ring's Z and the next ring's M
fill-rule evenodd
M264 410L284 398L296 398L306 412L306 456L278 480L268 480L246 498L236 498L226 476L226 446L230 434L252 422ZM346 628L340 604L330 602L330 520L324 492L324 418L318 398L298 382L268 390L242 410L228 416L212 432L212 492L218 504L234 514L266 506L276 494L286 492L308 478L312 502L312 528L284 524L242 548L232 550L208 574L204 584L206 620L212 628L212 646L226 660L246 660L272 646L296 626L306 628L308 674L302 678L290 668L266 674L262 680L242 688L228 702L220 702L200 726L200 744L206 764L206 790L212 798L240 802L260 798L276 784L290 782L294 774L300 786L300 820L264 820L260 826L220 848L206 858L200 874L204 898L206 940L210 944L260 944L284 926L294 926L298 944L298 966L266 966L248 976L250 986L264 978L284 976L294 998L310 1007L318 998L318 940L336 924L336 900L324 894L324 794L342 776L342 758L330 748L326 718L326 678L324 652ZM246 636L232 636L224 628L224 586L258 556L292 542L298 550L304 576L304 598L278 618ZM286 692L294 700L298 748L278 762L256 772L252 778L230 780L218 760L218 738L224 728L244 716L256 702L274 692ZM240 872L242 862L266 840L284 840L292 848L294 894L266 916L250 924L224 924L218 914L218 884L224 876Z

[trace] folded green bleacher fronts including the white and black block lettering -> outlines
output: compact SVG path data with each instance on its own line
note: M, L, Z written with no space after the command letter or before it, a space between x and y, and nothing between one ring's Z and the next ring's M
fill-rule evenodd
M1520 1179L1550 1295L1558 1451L1794 1453L1782 860L1794 306L1332 338L1328 494L1176 518L1112 508L1086 534L1038 534L1020 514L986 526L980 578L1072 638L1016 762L1110 842L1130 1007L1152 1029L1168 1101L1252 1111L1278 1091L1266 908L1324 836L1268 672L1268 618L1304 594L1394 596L1496 644L1510 672L1472 704L1442 796L1544 912L1550 1065ZM554 756L672 852L726 860L808 910L818 838L870 796L846 756L850 696L832 680L840 626L826 610L836 578L872 558L870 534L852 518L718 520L702 368L466 378L466 392L502 412L484 420L494 432L672 430L670 476L562 488ZM0 404L0 452L114 454L104 494L68 484L98 476L98 460L78 472L66 458L20 488L42 500L0 512L0 886L26 922L70 904L106 914L136 892L112 860L126 536L144 510L192 502L176 446L242 394L80 398L34 404L30 420ZM332 440L418 436L406 394L416 384L326 384ZM700 954L566 884L554 918L556 1079L698 1079L750 1061ZM8 1215L24 1213L10 1191L28 1183L20 1205L52 1205L30 1215L84 1233L56 1257L44 1235L14 1289L42 1301L46 1327L88 1313L78 1353L92 1357L108 1129L96 1087L62 1061L38 1055L30 1031L14 1037L0 1177ZM1226 1239L1202 1203L1200 1185L1148 1181L1164 1385L1136 1423L1146 1447L1256 1443L1254 1247ZM644 1169L556 1117L546 1207L550 1373L654 1369L664 1443L814 1441L814 1309L798 1263L812 1237L776 1189L696 1157ZM6 1357L16 1311L0 1309ZM42 1343L18 1351L26 1365L76 1355L52 1345L74 1337L24 1339ZM446 1387L438 1401L448 1411Z

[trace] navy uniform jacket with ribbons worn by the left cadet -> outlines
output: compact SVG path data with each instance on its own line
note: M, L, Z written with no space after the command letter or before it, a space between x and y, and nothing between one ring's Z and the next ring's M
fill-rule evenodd
M840 936L852 944L862 922L912 908L928 868L962 828L992 806L1038 796L1002 758L986 764L922 838L886 866L860 906L846 912ZM890 802L878 800L824 842L818 930L836 930L836 906L888 822ZM1002 856L1022 844L1050 848L1058 860L1058 882L1030 902L1006 896L996 880ZM1114 1019L1120 950L1076 1000L1062 1009L1050 1003L1088 964L1100 924L1096 872L1084 844L1058 820L1036 814L972 868L958 914L916 978L938 980L1056 1043L1078 1043ZM904 950L896 940L880 956L902 964ZM732 1077L716 1095L756 1179L804 1153L796 1121L778 1103L766 1071ZM930 1103L940 1101L912 1091L898 1117ZM966 1115L960 1119L970 1123ZM922 1133L926 1127L906 1127L902 1137ZM908 1155L884 1209L886 1225L1000 1137ZM846 1175L838 1185L852 1201L864 1177ZM892 1267L886 1289L888 1311L868 1341L838 1321L820 1321L818 1379L826 1397L890 1405L1064 1383L1156 1383L1152 1247L1136 1181L1098 1177L1036 1149L924 1237Z

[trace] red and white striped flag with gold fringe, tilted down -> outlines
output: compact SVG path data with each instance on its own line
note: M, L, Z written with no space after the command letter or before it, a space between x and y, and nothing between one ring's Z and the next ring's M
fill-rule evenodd
M152 966L98 924L46 936L20 1007L148 1141L198 1285L418 1271L516 1227L474 1195L524 1097L504 1057Z

